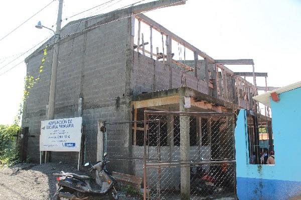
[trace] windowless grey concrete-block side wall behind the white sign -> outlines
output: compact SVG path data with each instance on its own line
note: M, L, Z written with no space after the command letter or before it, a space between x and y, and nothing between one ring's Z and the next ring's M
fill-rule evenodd
M92 25L91 21L81 23L78 30L89 25ZM123 19L66 37L60 43L55 118L76 116L78 99L83 97L83 125L86 126L89 161L96 160L97 121L129 120L129 98L125 96L129 28L129 19ZM29 157L35 162L40 159L40 124L41 120L46 120L52 54L53 49L49 49L45 70L25 103L23 125L29 126L30 134L35 135L28 143ZM41 60L42 51L30 56L27 72L37 75ZM120 98L118 103L117 97ZM122 145L127 148L129 136L122 136ZM77 162L77 156L77 152L52 152L51 159Z

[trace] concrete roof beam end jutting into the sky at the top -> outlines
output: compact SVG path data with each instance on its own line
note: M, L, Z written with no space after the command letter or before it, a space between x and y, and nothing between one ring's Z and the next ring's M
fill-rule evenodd
M133 13L144 12L152 9L157 9L161 7L169 7L174 5L183 5L186 0L156 0L148 3L139 4L132 7Z

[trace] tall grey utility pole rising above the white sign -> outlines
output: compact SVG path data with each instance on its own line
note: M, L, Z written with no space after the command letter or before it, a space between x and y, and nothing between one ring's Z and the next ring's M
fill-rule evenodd
M51 79L50 79L47 119L54 119L55 89L56 89L56 80L57 80L63 1L64 0L59 0L59 11L58 11L57 26L56 26L55 40L53 46L54 51L53 51L52 66L51 66Z

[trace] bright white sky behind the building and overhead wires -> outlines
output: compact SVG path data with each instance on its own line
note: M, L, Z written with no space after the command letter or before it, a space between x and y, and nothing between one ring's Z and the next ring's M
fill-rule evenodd
M29 18L51 0L5 1L0 17L0 38ZM117 0L115 5L98 12L135 2ZM150 0L145 0L147 2ZM65 0L63 18L105 2L105 0ZM18 6L16 4L18 3ZM58 0L21 28L0 41L0 68L52 33L37 29L38 20L55 24ZM89 13L89 12L88 12ZM83 17L83 13L74 18ZM161 8L145 13L215 59L252 58L255 70L268 72L269 86L284 86L300 80L301 0L188 0L185 5ZM54 27L55 29L55 27ZM0 69L0 74L24 57ZM234 71L251 71L251 66L229 66ZM0 75L0 124L12 123L23 95L25 64ZM264 78L257 78L264 85Z

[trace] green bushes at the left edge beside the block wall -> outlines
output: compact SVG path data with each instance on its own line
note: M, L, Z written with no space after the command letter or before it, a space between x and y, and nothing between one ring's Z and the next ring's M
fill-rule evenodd
M17 124L0 125L0 164L8 164L17 160L16 137L21 127Z

